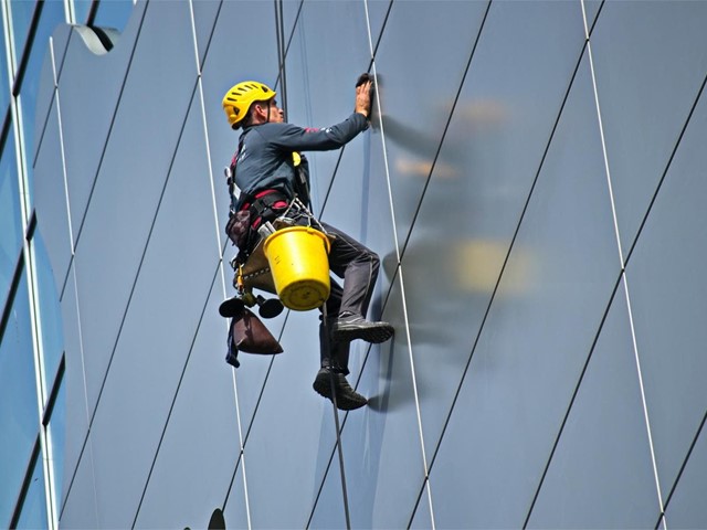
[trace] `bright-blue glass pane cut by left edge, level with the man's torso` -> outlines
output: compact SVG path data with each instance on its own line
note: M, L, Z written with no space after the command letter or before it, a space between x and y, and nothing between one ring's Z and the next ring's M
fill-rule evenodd
M0 303L7 300L10 282L22 250L20 191L14 153L14 134L11 130L2 147L0 159Z

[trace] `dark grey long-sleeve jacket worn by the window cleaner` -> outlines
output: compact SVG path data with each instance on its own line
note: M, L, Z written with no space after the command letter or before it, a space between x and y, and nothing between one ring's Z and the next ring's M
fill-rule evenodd
M358 113L326 129L275 123L245 128L231 162L241 200L262 190L279 190L293 198L297 189L293 152L338 149L367 128L366 117ZM306 165L304 169L307 171ZM308 174L306 178L309 180Z

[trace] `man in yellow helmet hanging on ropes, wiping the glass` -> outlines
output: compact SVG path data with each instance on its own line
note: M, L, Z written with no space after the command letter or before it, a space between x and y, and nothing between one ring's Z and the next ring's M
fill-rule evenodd
M346 120L326 129L310 129L284 123L276 93L257 82L233 86L223 98L229 124L243 129L231 162L233 181L241 190L232 215L249 211L250 231L239 245L247 254L257 240L256 230L274 221L298 199L309 205L309 173L300 151L339 149L368 128L371 106L371 80L359 77L355 112ZM233 216L232 216L233 219ZM314 390L335 401L341 410L366 405L367 400L346 380L349 373L349 343L355 339L384 342L393 335L387 322L366 320L378 277L380 259L376 253L351 236L326 223L321 227L335 236L329 252L329 269L344 278L339 286L331 280L326 301L326 321L320 317L319 342L321 368ZM241 248L244 246L245 248Z

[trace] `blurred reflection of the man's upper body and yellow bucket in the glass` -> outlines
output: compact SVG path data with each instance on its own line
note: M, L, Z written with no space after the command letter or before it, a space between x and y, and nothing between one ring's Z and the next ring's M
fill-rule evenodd
M450 110L442 108L435 114L446 117ZM490 167L503 161L509 110L503 102L490 98L461 102L439 156L439 141L426 135L426 129L390 116L382 116L380 121L386 137L404 149L397 151L398 156L390 161L404 177L399 181L399 193L403 194L399 203L414 205L419 181L428 181L414 233L404 248L407 274L419 278L418 273L428 276L436 273L433 293L428 296L458 296L460 290L492 293L510 239L499 232L494 215L487 214L492 213L487 212L488 204L497 211L499 201L510 208L518 198L516 191L497 179L498 168ZM404 186L405 181L410 186ZM506 294L523 293L529 282L531 258L526 251L516 252L521 254L513 261L513 268L506 271Z

